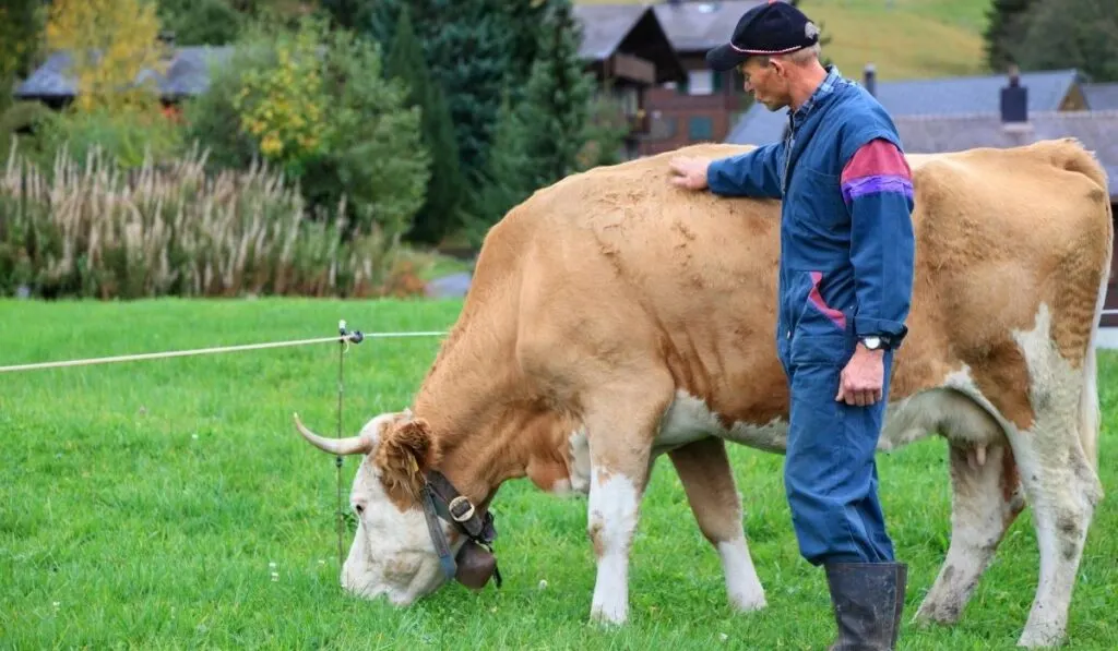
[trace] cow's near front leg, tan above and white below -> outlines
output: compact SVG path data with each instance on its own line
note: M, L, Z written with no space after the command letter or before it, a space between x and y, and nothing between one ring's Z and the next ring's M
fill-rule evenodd
M671 379L635 373L639 382L598 384L584 421L590 448L587 533L598 572L591 619L619 624L628 618L629 548L647 485L652 441L671 400Z

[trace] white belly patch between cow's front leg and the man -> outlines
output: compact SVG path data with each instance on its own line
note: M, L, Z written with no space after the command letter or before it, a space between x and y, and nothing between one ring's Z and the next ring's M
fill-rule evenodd
M660 431L653 442L654 454L711 435L759 450L783 452L788 438L788 423L783 419L768 423L739 421L727 430L704 401L685 391L676 391L675 400L661 418Z

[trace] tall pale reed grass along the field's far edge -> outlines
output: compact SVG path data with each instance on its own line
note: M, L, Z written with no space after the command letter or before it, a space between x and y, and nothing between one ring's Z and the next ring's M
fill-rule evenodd
M0 171L0 291L40 297L399 294L400 233L344 234L266 165L207 173L197 149L126 173L100 151ZM343 200L344 202L344 200ZM414 285L414 284L411 284ZM414 287L404 291L414 290Z

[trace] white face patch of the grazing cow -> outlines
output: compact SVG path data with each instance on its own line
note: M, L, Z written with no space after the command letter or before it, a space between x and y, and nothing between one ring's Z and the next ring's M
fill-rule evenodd
M379 415L361 430L373 444L372 451L361 460L350 490L350 504L354 509L360 506L361 515L342 565L341 585L366 599L383 595L394 604L407 605L437 590L445 580L423 509L416 507L401 513L388 498L380 472L370 461L376 457L381 425L395 418L394 414ZM442 524L444 534L449 536L449 525ZM449 539L447 537L447 542ZM457 552L463 542L459 539L453 545L451 553Z

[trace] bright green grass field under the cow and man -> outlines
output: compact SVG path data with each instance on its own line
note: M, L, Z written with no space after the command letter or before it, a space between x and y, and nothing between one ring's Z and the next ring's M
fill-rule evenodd
M38 304L0 301L0 365L332 336L443 329L448 303L309 300ZM367 339L345 361L344 430L397 410L437 338ZM717 555L662 460L633 551L632 623L587 625L595 567L582 499L523 481L495 502L505 584L455 584L410 610L338 586L333 459L295 433L291 414L332 435L338 348L321 344L129 364L0 374L0 648L821 649L825 583L799 559L780 458L731 450L746 528L769 607L726 606ZM1118 358L1102 358L1107 427L1118 410ZM1118 447L1100 466L1112 491ZM344 491L357 459L343 468ZM945 447L881 459L899 555L911 563L915 612L949 535ZM1118 526L1103 500L1076 585L1072 649L1118 635ZM348 548L349 537L345 539ZM1036 582L1026 511L954 629L906 625L908 650L1012 649ZM547 581L544 588L540 582ZM724 635L724 639L722 638Z

